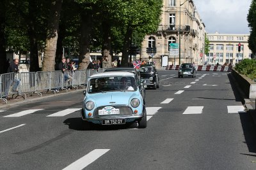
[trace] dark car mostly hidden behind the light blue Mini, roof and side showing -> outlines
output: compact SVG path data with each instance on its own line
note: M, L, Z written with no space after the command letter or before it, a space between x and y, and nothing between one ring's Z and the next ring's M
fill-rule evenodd
M140 89L140 93L141 96L143 97L144 103L145 103L145 88L143 86L142 80L141 80L141 76L140 76L140 71L138 71L137 69L134 69L134 67L111 67L111 68L107 68L104 70L104 72L107 71L127 71L130 73L134 73L135 74L135 79L138 82L138 87Z

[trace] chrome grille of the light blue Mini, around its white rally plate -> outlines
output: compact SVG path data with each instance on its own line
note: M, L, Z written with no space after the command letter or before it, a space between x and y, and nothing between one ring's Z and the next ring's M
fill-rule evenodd
M111 105L113 106L113 105ZM132 116L132 109L129 106L124 105L114 105L113 107L119 109L119 114L117 115L99 115L99 110L102 110L106 106L100 106L93 111L93 117L122 117L122 116Z

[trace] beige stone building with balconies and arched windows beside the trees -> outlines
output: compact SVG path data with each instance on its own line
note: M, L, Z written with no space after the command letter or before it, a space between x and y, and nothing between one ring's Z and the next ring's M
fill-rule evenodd
M164 0L157 32L145 36L141 60L156 62L157 68L184 62L201 64L205 25L192 0ZM201 54L202 55L202 54Z

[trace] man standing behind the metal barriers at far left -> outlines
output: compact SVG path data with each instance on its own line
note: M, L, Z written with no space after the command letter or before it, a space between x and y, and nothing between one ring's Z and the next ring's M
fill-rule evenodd
M19 59L14 59L12 63L10 63L10 66L7 69L7 73L14 73L14 79L10 79L10 82L8 83L8 89L10 88L10 85L13 83L13 92L19 92L17 89L20 80L18 78L19 76Z

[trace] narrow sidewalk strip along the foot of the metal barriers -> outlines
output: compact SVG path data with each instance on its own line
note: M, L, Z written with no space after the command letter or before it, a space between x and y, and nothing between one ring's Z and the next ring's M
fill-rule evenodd
M33 101L38 101L40 99L45 99L45 98L49 98L49 97L56 97L56 96L62 96L64 94L72 94L72 93L76 93L76 92L81 92L83 93L85 89L70 89L70 90L60 90L60 92L56 92L56 94L54 94L54 92L47 92L47 93L43 93L42 92L42 97L38 96L38 94L32 94L32 96L29 94L26 94L27 97L26 99L23 99L22 96L18 96L16 99L12 99L8 98L7 100L7 104L4 103L3 100L0 100L0 110L6 109L6 108L11 108L12 106L19 106L19 104L24 104L24 103L29 103L29 102L33 102ZM15 96L14 96L15 97Z

